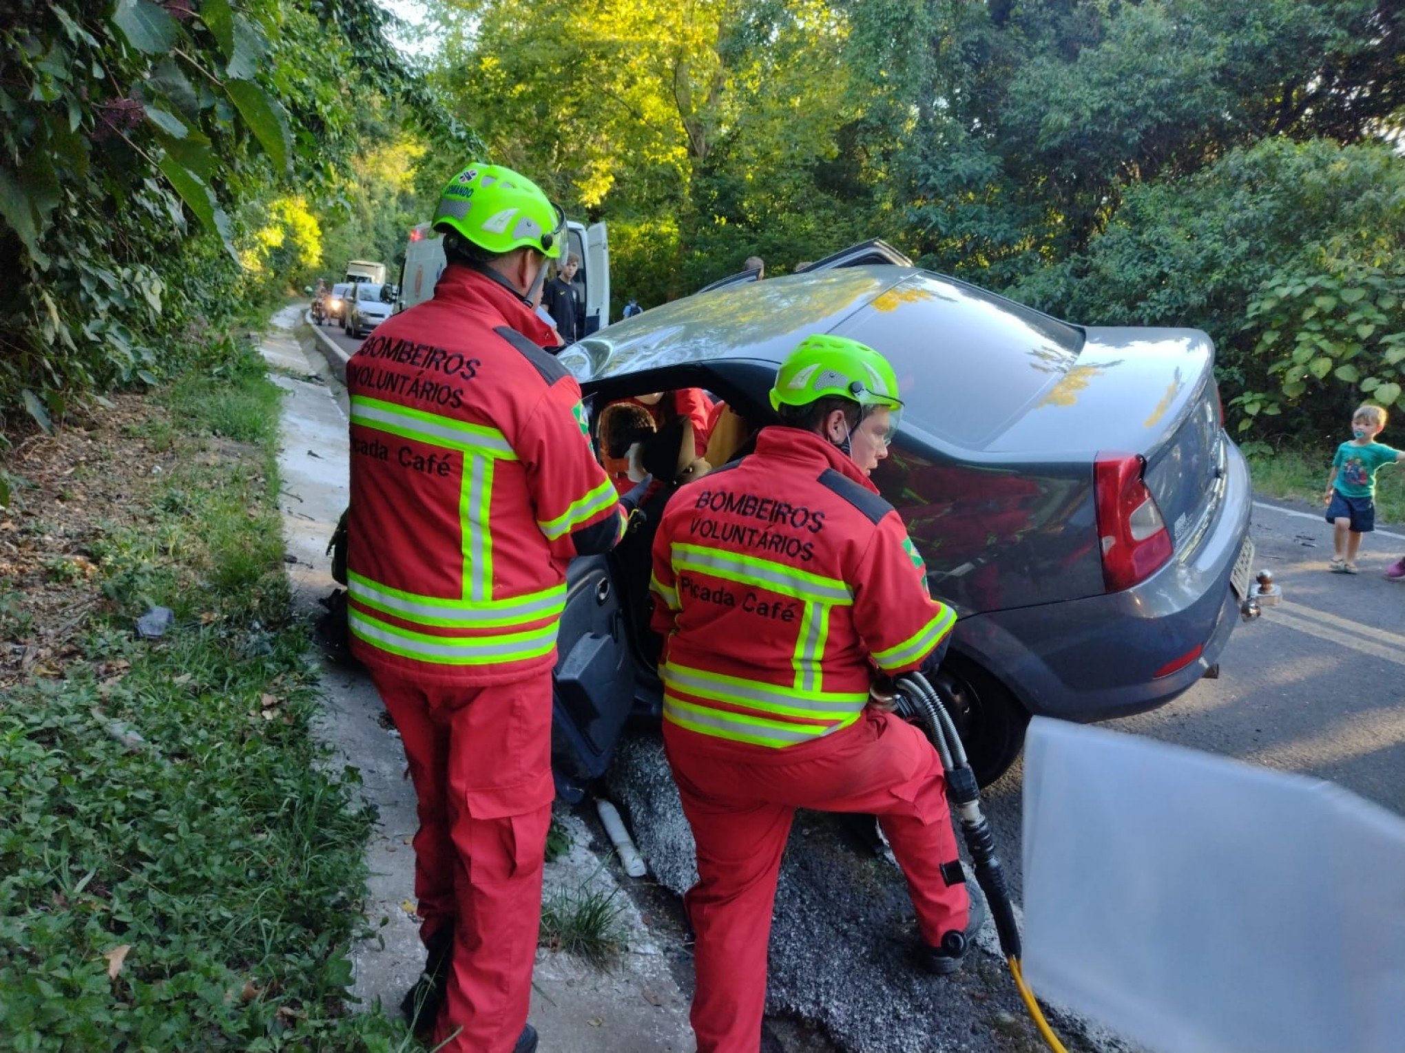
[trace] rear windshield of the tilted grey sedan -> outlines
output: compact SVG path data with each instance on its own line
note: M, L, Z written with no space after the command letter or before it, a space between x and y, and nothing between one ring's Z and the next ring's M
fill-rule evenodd
M936 274L899 282L835 331L892 362L903 425L968 449L1058 383L1083 347L1076 326Z

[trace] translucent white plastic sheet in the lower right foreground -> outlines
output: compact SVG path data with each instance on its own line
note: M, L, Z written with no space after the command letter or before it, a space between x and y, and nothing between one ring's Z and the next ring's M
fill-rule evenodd
M1163 1053L1399 1053L1405 819L1319 779L1035 719L1024 974Z

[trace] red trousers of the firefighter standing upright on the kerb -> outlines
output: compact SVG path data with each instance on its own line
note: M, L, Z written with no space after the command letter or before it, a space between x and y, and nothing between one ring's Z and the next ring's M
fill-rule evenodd
M551 671L464 688L372 673L419 797L414 896L429 939L454 925L434 1045L510 1050L527 1024L551 823Z

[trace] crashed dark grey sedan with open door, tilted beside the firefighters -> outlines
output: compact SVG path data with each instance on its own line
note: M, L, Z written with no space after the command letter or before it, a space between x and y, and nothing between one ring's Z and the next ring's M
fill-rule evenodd
M885 354L906 406L873 479L933 595L958 612L941 680L989 783L1030 715L1142 712L1215 667L1249 590L1249 473L1204 333L1073 326L905 263L868 243L785 278L736 275L561 361L593 420L615 399L702 388L745 434L774 423L767 392L802 337ZM656 522L646 512L614 553L570 564L554 724L568 797L603 774L629 717L660 713L646 628Z

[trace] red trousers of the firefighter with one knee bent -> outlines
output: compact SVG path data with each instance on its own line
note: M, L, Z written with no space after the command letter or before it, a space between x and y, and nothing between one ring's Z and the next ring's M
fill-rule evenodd
M697 841L698 883L684 904L697 934L698 1053L760 1047L776 879L798 807L878 816L923 939L965 929L965 886L941 875L957 859L941 760L912 724L865 710L843 731L771 750L665 722L663 741Z

